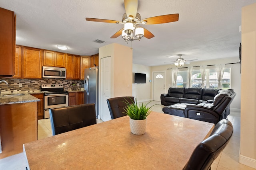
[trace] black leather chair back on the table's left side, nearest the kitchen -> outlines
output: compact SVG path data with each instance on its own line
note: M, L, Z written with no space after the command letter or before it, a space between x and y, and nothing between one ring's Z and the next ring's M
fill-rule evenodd
M95 104L57 107L50 109L52 135L96 124Z

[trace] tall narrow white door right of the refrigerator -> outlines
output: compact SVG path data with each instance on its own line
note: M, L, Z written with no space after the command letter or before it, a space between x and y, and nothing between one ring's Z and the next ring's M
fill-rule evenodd
M100 119L111 120L107 99L111 98L111 57L101 59L101 108Z

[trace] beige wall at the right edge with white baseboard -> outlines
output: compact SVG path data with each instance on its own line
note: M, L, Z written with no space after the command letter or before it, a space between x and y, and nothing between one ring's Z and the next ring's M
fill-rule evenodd
M256 168L256 3L242 8L241 133L239 162Z

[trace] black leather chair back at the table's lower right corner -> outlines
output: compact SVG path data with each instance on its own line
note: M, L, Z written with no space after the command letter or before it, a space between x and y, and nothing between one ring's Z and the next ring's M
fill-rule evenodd
M227 119L222 119L214 127L210 137L194 149L183 170L209 170L212 162L228 144L233 133L233 126Z

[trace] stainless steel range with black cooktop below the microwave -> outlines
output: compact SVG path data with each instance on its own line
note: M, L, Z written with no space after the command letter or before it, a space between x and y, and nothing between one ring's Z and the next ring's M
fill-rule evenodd
M49 109L68 106L68 92L63 84L41 84L44 92L44 119L50 117Z

